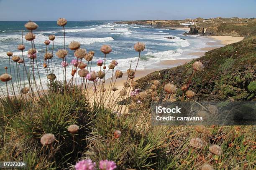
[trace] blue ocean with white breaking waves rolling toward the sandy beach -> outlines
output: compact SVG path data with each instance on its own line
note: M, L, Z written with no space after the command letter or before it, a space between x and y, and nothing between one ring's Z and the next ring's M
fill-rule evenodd
M21 55L21 52L17 49L17 46L22 42L21 30L24 30L24 35L28 30L24 27L26 22L0 22L0 74L5 72L4 67L9 67L7 51L14 52L14 55ZM33 32L36 34L35 44L38 60L38 70L40 72L43 85L46 84L47 78L43 67L45 47L44 41L48 40L48 36L54 34L56 39L54 40L54 53L63 48L64 35L63 29L59 27L56 22L36 22L39 27ZM214 41L208 37L200 37L197 35L184 36L184 30L171 30L165 28L153 28L144 25L128 25L128 24L115 24L113 21L81 21L81 22L68 22L65 26L66 31L66 46L71 41L78 41L81 43L81 47L87 51L95 51L95 57L92 62L92 70L99 70L96 65L96 61L103 59L104 55L100 52L100 47L103 44L108 44L112 47L112 52L107 55L107 63L111 60L117 60L118 66L115 70L126 71L130 63L132 67L135 67L138 60L138 52L133 49L133 45L136 42L144 42L146 49L141 52L141 60L138 64L138 70L143 69L159 69L162 66L159 65L163 60L177 60L177 59L189 59L195 58L195 56L189 55L189 52L197 52L202 47L207 47L207 42ZM164 37L176 37L176 39L166 39ZM184 38L185 40L181 39ZM31 42L26 41L23 38L23 43L26 46L26 50L31 48ZM49 45L51 50L52 44ZM24 53L26 54L26 52ZM29 63L27 55L24 56L25 62ZM69 50L67 55L67 62L70 63L74 59L74 52ZM62 67L60 65L61 59L54 56L53 62L55 65L55 74L61 79ZM108 64L107 64L108 65ZM172 67L170 65L169 67ZM59 69L59 70L58 70ZM72 70L71 65L67 67L67 79L70 79ZM10 70L8 69L8 72ZM12 73L16 71L16 66L12 67ZM22 67L18 70L20 74L23 73ZM15 74L17 71L15 72ZM23 77L23 76L21 76ZM110 77L110 74L107 75ZM13 81L15 81L13 77ZM38 78L38 75L36 75ZM23 78L21 78L23 79ZM28 82L26 82L28 83ZM5 92L5 83L0 82L0 86ZM44 87L46 88L46 87Z

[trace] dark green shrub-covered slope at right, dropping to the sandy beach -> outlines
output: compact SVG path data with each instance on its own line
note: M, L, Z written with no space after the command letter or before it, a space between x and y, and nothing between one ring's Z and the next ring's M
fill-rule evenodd
M228 100L256 100L255 99L255 70L256 37L247 37L241 42L236 42L225 47L220 47L205 53L197 61L204 65L204 71L197 72L192 79L190 89L197 92L193 97L198 101L223 101ZM182 66L159 71L160 76L151 73L141 80L137 80L140 88L146 90L150 87L151 81L158 79L164 85L173 82L178 89L185 85L192 74L192 63L195 60ZM178 79L176 77L179 77ZM149 83L149 84L148 84ZM163 87L163 86L162 86ZM161 88L161 98L164 97L164 90ZM214 94L214 95L213 95ZM182 97L177 93L177 100Z

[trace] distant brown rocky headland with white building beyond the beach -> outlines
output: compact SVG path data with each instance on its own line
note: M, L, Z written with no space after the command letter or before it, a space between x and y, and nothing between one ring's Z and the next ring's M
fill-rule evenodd
M247 37L256 35L255 18L196 18L185 20L137 20L137 21L119 21L115 23L148 25L159 28L181 27L180 23L194 22L196 30L200 34L206 35L229 35Z

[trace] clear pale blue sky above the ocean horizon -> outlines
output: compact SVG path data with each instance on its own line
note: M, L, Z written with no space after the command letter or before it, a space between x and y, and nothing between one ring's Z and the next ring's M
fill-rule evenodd
M0 0L0 21L256 17L256 0Z

